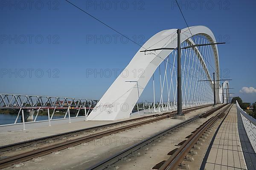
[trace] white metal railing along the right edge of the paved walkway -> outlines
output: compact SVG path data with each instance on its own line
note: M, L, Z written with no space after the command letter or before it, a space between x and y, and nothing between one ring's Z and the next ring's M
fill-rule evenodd
M237 113L241 114L241 119L243 121L244 129L250 140L254 152L256 152L256 119L249 116L243 109L240 108L238 102L236 101Z

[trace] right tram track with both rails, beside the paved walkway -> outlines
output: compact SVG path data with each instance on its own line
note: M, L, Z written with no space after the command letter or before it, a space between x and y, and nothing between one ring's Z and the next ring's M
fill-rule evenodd
M128 147L125 150L122 150L120 153L117 153L116 155L111 156L108 159L105 159L104 161L99 162L98 164L93 165L92 167L88 168L87 170L109 170L109 169L115 169L115 164L118 163L119 161L121 161L122 159L125 159L126 157L129 156L133 156L134 153L136 154L137 152L139 152L139 150L147 147L149 144L157 141L161 136L164 136L168 133L171 133L172 131L174 131L175 129L184 126L190 122L193 122L195 119L199 119L201 117L206 117L211 115L212 113L214 113L215 111L218 111L219 109L223 108L226 105L221 105L217 108L214 108L210 111L207 111L206 113L202 113L199 114L191 119L186 120L185 122L181 122L178 125L175 125L173 127L170 127L166 130L161 131L160 133L155 134L154 136L149 137L148 139L145 139L137 144L132 145L131 147ZM220 115L223 115L224 111L226 111L227 107L221 111L221 113L218 113L216 116L213 116L212 118L209 119L209 121L205 122L203 125L201 125L201 127L198 128L198 130L196 130L195 133L192 134L192 136L189 137L189 139L182 145L180 146L180 149L178 149L175 152L175 156L174 154L172 154L172 158L177 160L177 162L180 162L181 160L183 160L183 155L188 154L186 151L189 150L189 148L192 147L192 144L194 144L193 142L196 141L196 139L198 139L198 137L200 137L201 133L204 132L204 130L207 129L207 127L209 127L209 125L211 125L216 119L218 119L220 117ZM185 150L185 149L186 150ZM183 153L183 157L180 155L180 153ZM179 157L178 157L179 156ZM177 159L180 158L180 159ZM163 162L162 162L163 163ZM161 170L165 170L164 168L166 167L171 167L173 164L173 160L167 160L164 161L164 164L160 167L162 168ZM170 165L170 166L169 166ZM176 166L177 169L177 166ZM160 169L159 169L160 170Z

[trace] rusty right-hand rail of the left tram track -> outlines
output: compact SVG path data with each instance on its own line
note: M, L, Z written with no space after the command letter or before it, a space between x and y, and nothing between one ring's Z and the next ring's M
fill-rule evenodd
M203 106L203 107L208 107L208 106ZM194 110L197 110L197 109L200 109L200 108L202 108L202 107L188 109L186 112L194 111ZM30 160L32 158L35 158L35 157L38 157L38 156L44 156L44 155L47 155L47 154L55 152L55 151L66 149L66 148L71 147L71 146L76 146L76 145L82 144L84 142L89 142L93 139L99 139L103 136L108 136L108 135L111 135L113 133L118 133L120 131L131 129L133 127L137 127L137 126L140 126L140 125L145 125L145 124L148 124L148 123L151 123L151 122L156 122L156 121L159 121L159 120L162 120L162 119L166 119L167 117L173 116L176 113L177 112L164 114L163 116L158 116L154 119L148 119L148 120L145 120L145 121L142 121L142 122L136 122L136 123L131 124L131 125L116 127L116 128L111 129L111 130L105 130L103 132L94 133L94 134L91 134L91 135L79 137L77 139L72 139L72 140L65 141L65 142L60 142L58 144L54 144L54 145L51 145L51 146L41 147L41 148L38 148L38 149L35 149L35 150L30 150L30 151L27 151L27 152L19 153L19 154L14 155L14 156L9 156L9 157L0 159L0 169L5 168L5 167L9 167L12 164L15 164L17 162L28 161L28 160Z

